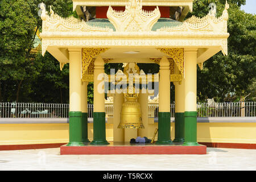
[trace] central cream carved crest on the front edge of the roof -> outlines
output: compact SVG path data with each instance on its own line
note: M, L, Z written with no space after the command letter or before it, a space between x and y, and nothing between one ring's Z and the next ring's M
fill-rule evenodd
M116 31L141 32L151 31L161 14L158 6L154 11L144 11L142 10L142 1L129 0L125 11L115 11L109 6L107 16Z

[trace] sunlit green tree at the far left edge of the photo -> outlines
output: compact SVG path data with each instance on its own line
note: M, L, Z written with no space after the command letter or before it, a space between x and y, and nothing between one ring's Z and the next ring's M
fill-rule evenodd
M9 79L13 80L16 85L16 101L22 81L27 76L25 69L32 71L30 59L26 55L33 39L35 23L36 19L26 1L0 2L0 93L2 84L6 84Z

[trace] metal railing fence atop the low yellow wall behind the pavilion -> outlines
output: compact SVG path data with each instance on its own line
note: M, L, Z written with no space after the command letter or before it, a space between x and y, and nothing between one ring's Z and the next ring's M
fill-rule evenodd
M197 117L255 117L256 102L198 103ZM105 105L106 118L113 118L113 104ZM0 102L0 118L68 118L69 104ZM158 104L148 104L148 117L158 118ZM175 104L171 104L171 117ZM88 118L93 105L88 104Z

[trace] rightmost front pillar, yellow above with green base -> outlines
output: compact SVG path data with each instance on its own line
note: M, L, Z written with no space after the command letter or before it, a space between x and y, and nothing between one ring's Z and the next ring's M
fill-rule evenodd
M184 49L184 143L185 146L196 146L197 143L197 108L196 108L196 73L197 49Z

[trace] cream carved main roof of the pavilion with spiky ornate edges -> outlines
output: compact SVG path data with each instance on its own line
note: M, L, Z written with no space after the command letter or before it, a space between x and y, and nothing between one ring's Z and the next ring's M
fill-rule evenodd
M73 16L61 18L52 9L48 14L41 6L43 55L48 51L65 64L69 62L68 48L104 49L101 56L111 63L155 63L166 55L180 61L175 56L184 48L197 48L197 63L202 64L219 51L228 53L228 3L220 17L210 11L203 18L192 16L176 22L160 18L158 6L154 11L143 10L142 2L129 0L125 11L109 6L108 19L89 22ZM129 52L137 53L127 55ZM183 67L183 60L179 65Z

